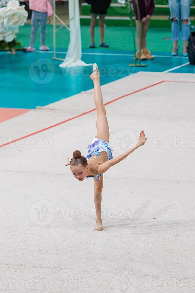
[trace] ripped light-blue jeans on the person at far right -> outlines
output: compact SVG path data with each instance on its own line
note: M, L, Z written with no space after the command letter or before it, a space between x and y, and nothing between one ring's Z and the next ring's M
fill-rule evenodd
M169 0L170 20L173 42L179 41L179 20L188 20L188 24L182 22L182 41L187 41L190 33L190 8L191 0ZM173 21L173 18L176 21Z

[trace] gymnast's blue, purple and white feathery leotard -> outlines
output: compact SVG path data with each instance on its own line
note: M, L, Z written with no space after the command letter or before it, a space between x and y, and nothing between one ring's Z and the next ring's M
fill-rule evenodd
M99 139L99 138L95 137L93 139L93 141L92 141L92 144L88 145L87 148L88 148L88 152L87 152L87 156L85 157L86 159L91 158L93 155L95 157L98 157L101 152L106 152L107 153L108 160L111 160L113 158L112 152L111 152L113 149L110 149L109 143L104 141L104 140L102 140L102 139ZM86 177L87 178L89 178L89 177L96 178L97 181L99 181L100 176L102 176L102 174L97 174L96 173L96 175L94 175L94 176L86 176Z

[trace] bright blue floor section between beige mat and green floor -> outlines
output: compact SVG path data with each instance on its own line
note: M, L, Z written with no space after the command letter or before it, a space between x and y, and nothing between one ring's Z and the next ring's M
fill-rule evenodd
M60 48L58 51L63 52ZM128 67L129 63L134 62L133 52L129 51L86 49L83 50L82 60L99 65L102 85L138 71L162 72L188 62L187 57L153 53L154 60L142 61L148 66L141 68ZM59 58L65 57L65 53L57 55ZM59 67L61 61L53 60L52 52L17 52L16 55L1 52L0 57L3 77L0 107L34 109L36 106L45 106L93 87L89 79L92 65L62 70ZM194 73L194 66L185 65L171 72Z

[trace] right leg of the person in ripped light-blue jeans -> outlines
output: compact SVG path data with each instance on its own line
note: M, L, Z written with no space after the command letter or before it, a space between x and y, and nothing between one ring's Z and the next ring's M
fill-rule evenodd
M182 20L182 41L183 54L187 54L187 41L190 34L190 8L191 0L180 0L181 20Z

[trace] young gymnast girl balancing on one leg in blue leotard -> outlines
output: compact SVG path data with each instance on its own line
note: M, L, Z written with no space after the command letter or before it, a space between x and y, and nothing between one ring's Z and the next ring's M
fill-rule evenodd
M97 133L92 141L92 144L88 145L89 150L87 156L82 156L81 152L76 150L73 152L73 158L67 158L68 163L65 166L70 165L71 172L79 181L83 181L86 177L94 178L94 202L97 216L95 230L102 231L101 203L103 174L110 167L124 160L139 146L144 145L147 138L145 138L144 131L142 130L139 134L139 141L135 146L126 150L116 158L112 157L112 152L109 145L110 132L108 120L106 117L106 110L100 88L99 70L96 63L93 65L93 73L90 75L90 79L93 80L94 83L94 101L97 110Z

